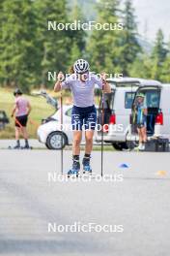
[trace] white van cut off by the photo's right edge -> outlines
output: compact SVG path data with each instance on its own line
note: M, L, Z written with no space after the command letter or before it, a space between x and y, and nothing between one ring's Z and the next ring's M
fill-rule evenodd
M145 95L145 104L148 109L147 134L152 137L163 137L170 140L170 84L140 85L136 93ZM135 104L136 97L133 104ZM134 124L133 124L134 125ZM136 129L130 125L128 141L138 141Z

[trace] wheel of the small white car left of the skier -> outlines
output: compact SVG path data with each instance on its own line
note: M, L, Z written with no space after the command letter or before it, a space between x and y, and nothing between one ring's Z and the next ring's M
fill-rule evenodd
M62 144L62 139L63 139L63 144ZM68 144L68 138L66 134L60 131L50 133L46 139L46 147L48 149L60 150L64 148L66 144Z

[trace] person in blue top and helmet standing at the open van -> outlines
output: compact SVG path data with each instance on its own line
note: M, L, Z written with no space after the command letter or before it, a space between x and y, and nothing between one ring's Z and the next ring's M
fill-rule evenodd
M147 142L147 106L144 103L145 95L139 93L136 96L135 112L137 116L137 132L139 135L139 145L137 149L145 150L145 144Z

